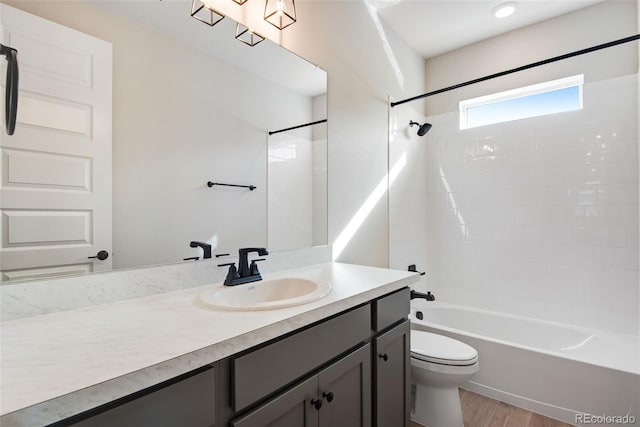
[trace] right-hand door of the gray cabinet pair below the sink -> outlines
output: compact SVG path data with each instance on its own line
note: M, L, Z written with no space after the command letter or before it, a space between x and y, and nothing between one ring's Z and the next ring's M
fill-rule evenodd
M371 346L320 372L318 397L322 399L320 427L370 427Z

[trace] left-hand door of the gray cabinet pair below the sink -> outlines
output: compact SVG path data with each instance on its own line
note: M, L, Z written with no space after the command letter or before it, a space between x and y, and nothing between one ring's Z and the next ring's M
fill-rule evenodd
M232 427L317 427L318 409L311 403L318 394L312 377L248 414L231 421Z

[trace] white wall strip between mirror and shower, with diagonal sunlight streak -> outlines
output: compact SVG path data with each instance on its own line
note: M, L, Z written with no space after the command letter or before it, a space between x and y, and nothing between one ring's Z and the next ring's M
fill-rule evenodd
M338 261L387 266L389 205L386 190L376 191L386 189L387 96L424 92L423 59L366 0L297 2L298 22L282 32L264 23L262 3L214 3L327 70L329 243Z

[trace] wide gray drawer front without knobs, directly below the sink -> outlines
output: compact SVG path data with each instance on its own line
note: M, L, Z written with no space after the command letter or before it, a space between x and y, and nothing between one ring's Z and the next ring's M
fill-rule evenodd
M232 360L235 411L251 405L371 336L365 305Z

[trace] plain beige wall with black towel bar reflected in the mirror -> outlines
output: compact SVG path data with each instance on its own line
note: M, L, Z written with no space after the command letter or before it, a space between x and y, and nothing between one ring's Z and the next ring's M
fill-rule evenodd
M115 268L266 246L266 129L310 121L309 97L86 2L7 3L113 44Z

